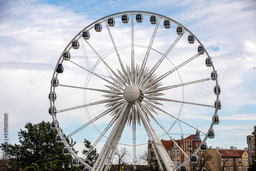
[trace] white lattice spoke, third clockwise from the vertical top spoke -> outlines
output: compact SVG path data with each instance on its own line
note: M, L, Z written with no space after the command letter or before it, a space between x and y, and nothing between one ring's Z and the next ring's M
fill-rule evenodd
M183 67L184 65L186 65L188 62L190 62L193 59L196 59L199 55L201 55L200 53L196 54L195 56L187 59L186 61L184 61L183 63L181 63L179 66L175 67L174 69L166 72L165 74L159 76L157 79L155 79L154 81L152 81L151 83L147 83L144 86L141 87L141 91L144 91L145 89L150 89L151 86L159 81L161 81L162 79L164 79L165 77L167 77L169 74L172 74L173 72L175 72L176 70L178 70L179 68Z

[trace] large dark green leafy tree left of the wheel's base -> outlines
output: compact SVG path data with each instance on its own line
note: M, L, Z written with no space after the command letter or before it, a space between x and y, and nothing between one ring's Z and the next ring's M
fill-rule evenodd
M14 154L17 155L16 170L62 170L61 164L72 163L71 155L63 155L63 143L57 143L57 131L50 122L27 123L25 130L18 132L19 144L2 143L0 149L9 158L9 166L14 167ZM69 140L67 140L70 142ZM75 142L69 143L73 147ZM80 170L72 166L71 170Z

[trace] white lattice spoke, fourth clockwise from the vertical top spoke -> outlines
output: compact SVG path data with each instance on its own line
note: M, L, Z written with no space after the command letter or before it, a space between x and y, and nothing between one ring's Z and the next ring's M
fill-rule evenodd
M143 93L150 94L150 93L169 90L169 89L173 89L173 88L177 88L177 87L181 87L181 86L187 86L187 85L194 84L194 83L204 82L204 81L208 81L208 80L211 80L211 78L205 78L205 79L200 79L200 80L196 80L196 81L185 82L185 83L177 84L174 86L166 86L166 87L162 87L162 88L154 88L153 87L153 88L150 88L150 89L144 91Z

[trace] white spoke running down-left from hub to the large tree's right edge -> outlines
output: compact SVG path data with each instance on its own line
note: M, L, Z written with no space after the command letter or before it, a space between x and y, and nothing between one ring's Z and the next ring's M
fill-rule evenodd
M73 131L72 133L70 133L69 135L67 135L66 137L64 137L64 139L68 139L69 137L73 136L74 134L78 133L79 131L81 131L82 129L84 129L85 127L87 127L88 125L90 125L91 123L95 122L96 120L102 118L103 116L105 116L106 114L109 114L110 112L115 112L116 109L118 109L118 106L122 105L123 102L118 101L116 102L111 108L105 110L104 112L102 112L101 114L99 114L97 117L91 119L89 122L87 122L86 124L80 126L78 129L76 129L75 131Z

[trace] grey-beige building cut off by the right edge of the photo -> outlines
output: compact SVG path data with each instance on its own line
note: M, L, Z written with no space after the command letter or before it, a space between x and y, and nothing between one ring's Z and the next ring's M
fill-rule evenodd
M254 132L251 133L252 135L248 135L247 139L247 146L248 146L248 153L249 153L249 164L252 164L252 161L255 160L255 134L256 134L256 125L254 126Z

